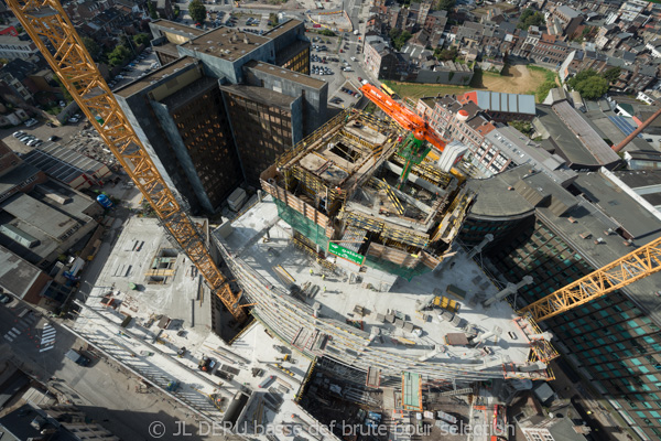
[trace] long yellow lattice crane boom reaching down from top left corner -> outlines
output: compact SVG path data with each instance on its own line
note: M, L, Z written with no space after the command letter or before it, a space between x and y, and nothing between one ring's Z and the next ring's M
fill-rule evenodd
M158 214L213 292L237 322L247 318L212 259L206 241L156 170L91 55L57 0L7 0L21 25ZM43 39L43 40L42 40Z

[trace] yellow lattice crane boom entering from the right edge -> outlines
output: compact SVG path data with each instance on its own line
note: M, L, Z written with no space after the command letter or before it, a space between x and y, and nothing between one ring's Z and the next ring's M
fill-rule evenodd
M661 237L519 311L535 322L551 319L661 271Z

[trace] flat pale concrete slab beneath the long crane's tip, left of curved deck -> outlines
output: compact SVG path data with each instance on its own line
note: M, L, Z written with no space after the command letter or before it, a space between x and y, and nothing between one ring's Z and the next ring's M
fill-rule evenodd
M205 219L194 220L206 225ZM258 385L273 375L273 395L284 404L278 416L264 409L266 418L286 419L295 409L289 402L299 391L310 359L294 354L295 362L286 364L292 375L281 370L275 358L282 355L274 348L281 342L268 337L259 323L249 326L232 346L225 344L210 332L213 299L198 272L169 241L159 222L131 217L86 300L96 312L83 309L75 327L159 386L166 388L173 379L178 380L173 394L214 421L227 417L228 404L237 391L262 391ZM122 329L124 336L118 336L116 330L127 315L132 321ZM113 337L109 330L116 334ZM154 344L156 338L162 344ZM186 355L177 357L182 346ZM203 355L215 359L218 367L201 372L197 364ZM256 367L266 374L253 376ZM214 406L212 397L225 399L220 408Z

